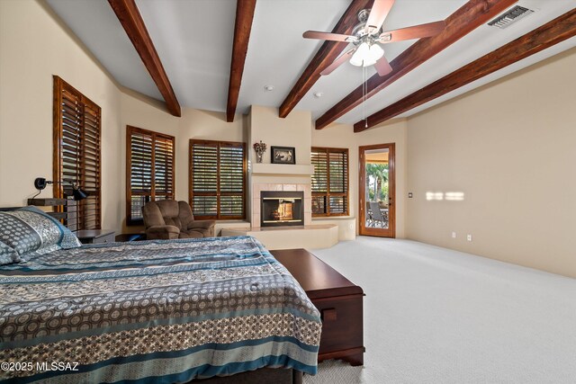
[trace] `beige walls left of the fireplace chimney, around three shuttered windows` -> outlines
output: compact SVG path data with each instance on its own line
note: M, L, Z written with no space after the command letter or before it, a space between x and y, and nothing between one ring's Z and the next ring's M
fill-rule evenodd
M52 75L102 108L103 228L125 228L126 125L175 136L176 199L188 199L188 140L245 141L246 117L189 108L175 118L161 103L121 89L49 8L0 1L0 206L22 206L34 178L52 178ZM14 145L14 143L20 143ZM41 194L52 196L51 188Z

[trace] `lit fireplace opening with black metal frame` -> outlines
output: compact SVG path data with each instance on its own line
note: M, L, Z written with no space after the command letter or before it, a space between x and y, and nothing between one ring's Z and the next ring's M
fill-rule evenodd
M304 192L260 192L261 227L304 225Z

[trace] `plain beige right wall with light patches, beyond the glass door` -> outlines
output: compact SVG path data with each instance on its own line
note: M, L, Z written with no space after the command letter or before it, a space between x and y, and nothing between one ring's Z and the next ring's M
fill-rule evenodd
M576 49L410 118L409 238L576 277L574 68Z

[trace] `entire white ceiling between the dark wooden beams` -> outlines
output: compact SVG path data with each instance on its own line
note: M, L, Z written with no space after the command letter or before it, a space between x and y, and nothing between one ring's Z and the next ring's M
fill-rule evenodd
M161 99L107 1L47 1L121 85ZM465 3L466 0L397 0L384 29L443 20ZM137 0L137 4L180 104L226 111L236 0ZM331 31L348 4L349 0L258 0L237 112L246 113L252 104L278 107L321 45L321 41L303 39L302 32ZM381 110L570 11L576 7L576 0L520 0L518 4L536 13L505 30L482 25L338 121L354 123ZM387 44L386 58L396 58L414 42ZM576 38L566 40L401 116L429 108L574 46ZM370 67L367 76L374 73ZM331 75L322 76L296 109L311 111L313 118L318 118L361 83L362 69L346 63ZM274 85L275 89L266 92L265 85ZM316 98L315 92L323 96Z

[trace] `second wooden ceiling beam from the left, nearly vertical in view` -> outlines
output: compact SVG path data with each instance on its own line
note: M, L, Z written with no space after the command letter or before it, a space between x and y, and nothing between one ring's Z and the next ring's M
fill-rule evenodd
M230 64L230 79L228 85L228 104L226 106L226 121L234 121L238 95L242 84L244 63L252 30L252 20L256 0L238 0L236 3L236 24L234 26L234 43L232 45L232 60Z

